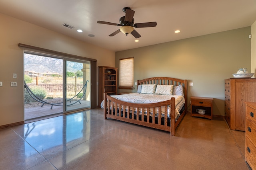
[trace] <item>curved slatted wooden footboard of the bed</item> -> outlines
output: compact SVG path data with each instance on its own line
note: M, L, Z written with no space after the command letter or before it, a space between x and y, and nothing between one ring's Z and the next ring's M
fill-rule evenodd
M171 120L169 123L168 105L171 106ZM155 111L158 109L158 113L159 111L161 112L161 107L164 107L164 112L162 109L162 114L164 114L164 117L162 117L162 119L158 119L158 117L156 117ZM152 111L152 116L148 114L150 109ZM147 114L141 116L138 114L139 110L142 112L146 111ZM174 136L175 129L178 126L178 123L180 123L180 120L184 114L185 113L182 113L178 120L175 122L175 98L152 104L135 104L123 102L104 94L104 119L111 118L134 123L137 125L169 131L170 134Z

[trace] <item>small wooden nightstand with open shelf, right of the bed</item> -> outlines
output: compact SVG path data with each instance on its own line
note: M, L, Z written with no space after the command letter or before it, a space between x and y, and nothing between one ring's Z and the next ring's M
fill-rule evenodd
M213 98L191 97L191 116L204 117L212 120L212 101ZM200 115L196 109L204 109L205 114Z

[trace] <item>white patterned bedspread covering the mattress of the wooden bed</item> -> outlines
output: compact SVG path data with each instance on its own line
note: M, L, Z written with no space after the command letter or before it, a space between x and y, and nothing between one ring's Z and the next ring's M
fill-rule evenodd
M156 103L156 102L163 102L166 100L170 100L172 97L175 98L175 119L177 120L178 117L180 117L179 111L182 109L185 103L184 96L177 96L177 95L159 95L159 94L140 94L140 93L129 93L129 94L122 94L122 95L112 95L112 98L115 98L117 100L121 100L124 102L130 102L130 103L140 103L140 104L150 104L150 103ZM104 108L104 102L101 103L101 107ZM123 110L123 106L121 106ZM126 112L128 111L128 108L125 108ZM152 116L152 108L150 108L150 116ZM131 111L131 110L130 110ZM135 113L137 112L136 108L134 109ZM158 107L155 109L155 116L158 117ZM170 105L168 105L168 117L170 118ZM164 117L164 107L161 108L161 117ZM139 114L142 114L142 110L140 108ZM144 115L147 115L146 109L144 109Z

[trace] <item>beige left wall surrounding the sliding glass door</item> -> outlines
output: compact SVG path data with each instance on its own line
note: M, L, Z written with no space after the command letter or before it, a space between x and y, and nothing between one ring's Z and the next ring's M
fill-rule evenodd
M97 66L115 66L113 51L3 14L0 21L0 125L24 121L23 49L18 43L96 59ZM13 73L17 74L16 79L12 78ZM10 87L12 81L17 82L17 87Z

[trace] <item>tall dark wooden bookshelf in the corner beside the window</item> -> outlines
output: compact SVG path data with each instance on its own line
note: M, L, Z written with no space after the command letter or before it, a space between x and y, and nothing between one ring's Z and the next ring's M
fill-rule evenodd
M99 66L98 107L100 107L100 103L104 100L104 93L116 95L117 69L115 67Z

